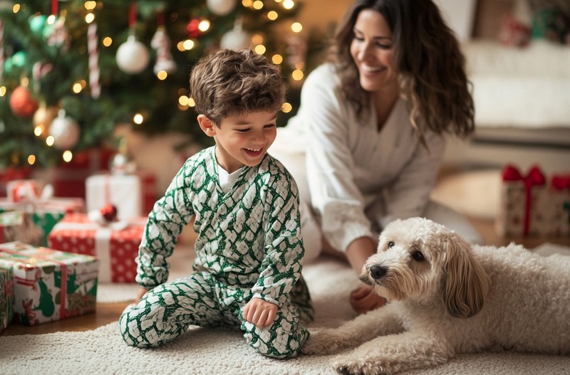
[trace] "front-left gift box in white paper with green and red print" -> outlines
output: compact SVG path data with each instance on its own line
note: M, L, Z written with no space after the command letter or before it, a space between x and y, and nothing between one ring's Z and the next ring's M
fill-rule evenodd
M26 325L95 311L99 260L21 242L0 244L0 267L14 271L14 319Z

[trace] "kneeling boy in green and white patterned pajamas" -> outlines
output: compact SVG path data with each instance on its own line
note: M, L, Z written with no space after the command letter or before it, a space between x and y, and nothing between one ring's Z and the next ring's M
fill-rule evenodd
M309 337L302 320L314 311L301 278L297 187L266 154L285 100L281 73L253 51L220 50L195 65L190 91L215 146L185 162L150 213L140 301L121 315L120 332L129 345L155 347L190 324L229 325L261 354L296 356ZM166 258L192 216L195 272L165 283Z

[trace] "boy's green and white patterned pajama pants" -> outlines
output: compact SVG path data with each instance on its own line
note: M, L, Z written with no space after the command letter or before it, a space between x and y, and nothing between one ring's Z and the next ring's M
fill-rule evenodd
M281 359L299 354L309 337L301 319L313 317L302 278L291 295L281 296L281 307L269 327L260 329L242 317L242 308L251 297L251 288L226 285L209 273L194 273L158 285L138 304L128 306L119 319L119 329L127 344L147 348L180 336L190 325L241 327L247 344L265 356Z

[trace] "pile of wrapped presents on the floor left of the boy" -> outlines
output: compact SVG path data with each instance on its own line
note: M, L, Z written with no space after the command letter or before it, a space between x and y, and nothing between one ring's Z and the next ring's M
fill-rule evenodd
M135 281L152 208L143 186L152 188L142 174L90 176L86 209L78 197L39 194L33 180L10 181L0 199L0 332L12 320L35 325L93 312L98 282Z

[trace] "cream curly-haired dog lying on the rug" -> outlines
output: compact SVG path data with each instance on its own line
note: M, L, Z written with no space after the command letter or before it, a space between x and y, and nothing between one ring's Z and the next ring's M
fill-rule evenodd
M570 354L570 257L467 243L425 218L393 221L361 280L388 305L315 332L305 354L335 354L341 374L393 374L456 353Z

